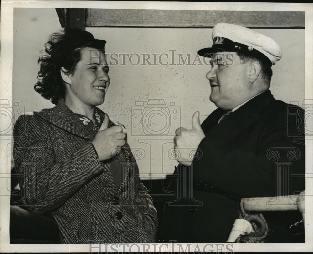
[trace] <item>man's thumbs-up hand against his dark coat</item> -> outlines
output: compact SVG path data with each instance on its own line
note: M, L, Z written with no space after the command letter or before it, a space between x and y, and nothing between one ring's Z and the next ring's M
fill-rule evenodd
M192 130L178 128L175 134L174 150L176 159L179 163L190 166L198 145L205 137L200 125L199 111L192 116Z

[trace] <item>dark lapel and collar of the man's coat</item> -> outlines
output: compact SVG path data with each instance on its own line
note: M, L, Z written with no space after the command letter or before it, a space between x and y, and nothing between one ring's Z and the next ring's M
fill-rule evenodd
M269 90L265 91L231 113L220 124L217 124L217 122L226 111L215 110L217 112L214 111L215 114L212 117L210 117L211 115L209 116L211 120L207 124L208 128L204 131L206 137L218 146L223 147L236 138L249 125L264 118L261 115L262 110L274 100L271 92Z

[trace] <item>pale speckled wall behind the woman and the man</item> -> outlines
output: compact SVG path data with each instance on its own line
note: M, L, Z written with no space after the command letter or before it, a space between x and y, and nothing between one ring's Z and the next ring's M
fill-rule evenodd
M37 81L39 51L43 49L48 36L61 29L55 9L18 8L14 10L13 24L13 89L12 101L25 106L25 111L53 107L33 89ZM197 50L212 44L212 29L201 28L87 28L95 38L107 41L106 53L171 54L176 50L186 56L191 53L193 62ZM255 29L274 38L282 47L282 59L272 67L271 91L276 99L287 103L304 99L304 29ZM165 62L165 57L163 57ZM121 60L121 58L119 58ZM137 61L136 56L132 58ZM170 57L169 60L171 61ZM178 62L176 57L175 62ZM126 61L126 63L128 63ZM210 70L206 65L156 65L110 66L111 84L100 106L111 118L119 120L128 130L129 144L136 153L141 153L137 163L141 177L162 177L172 173L176 161L168 153L172 148L172 138L180 125L191 128L191 117L200 111L203 121L214 109L209 101L210 86L205 74ZM180 110L180 118L172 119L169 135L132 135L131 107L136 101L164 99L166 105L174 102ZM137 107L138 108L138 107ZM139 107L140 108L140 107ZM173 109L174 107L169 107ZM164 118L156 116L154 124L164 124ZM134 127L141 128L134 122ZM134 133L133 133L134 134ZM137 153L136 153L137 154ZM151 174L152 173L152 174Z

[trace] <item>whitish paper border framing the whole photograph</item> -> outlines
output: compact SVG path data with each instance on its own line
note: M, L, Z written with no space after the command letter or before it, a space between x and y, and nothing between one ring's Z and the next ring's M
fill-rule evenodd
M313 5L310 3L243 3L243 2L124 2L124 1L2 1L1 2L1 68L0 84L1 98L6 98L12 103L12 66L13 66L13 8L99 8L99 9L171 9L171 10L244 10L244 11L305 11L305 99L313 99ZM200 36L200 35L199 35ZM296 66L295 66L296 68ZM5 125L0 119L1 126ZM11 154L10 146L1 140L1 172L0 172L0 250L1 252L89 252L89 244L9 244L9 205L10 196L5 195L7 178L9 178L7 153ZM11 142L10 140L8 142ZM306 136L306 174L312 174L313 139ZM313 178L306 179L306 188L313 190ZM311 239L313 221L313 196L305 197L306 204L306 243L228 243L233 245L234 252L308 252L313 251ZM209 229L208 229L209 230ZM123 251L116 244L107 245L107 251L115 252L115 249ZM138 244L139 245L139 244ZM177 244L164 243L151 244L150 251L154 247L161 246L162 252L179 251ZM205 243L198 244L200 250ZM227 243L224 244L225 246ZM187 247L187 244L182 244ZM105 245L102 244L102 250ZM110 247L113 247L110 248ZM141 246L142 247L142 246ZM190 250L196 250L196 243L190 246ZM157 248L158 249L158 248ZM142 249L141 249L142 250ZM97 248L92 249L98 252ZM127 252L127 249L124 249ZM222 250L221 250L222 251ZM224 249L224 251L227 251Z

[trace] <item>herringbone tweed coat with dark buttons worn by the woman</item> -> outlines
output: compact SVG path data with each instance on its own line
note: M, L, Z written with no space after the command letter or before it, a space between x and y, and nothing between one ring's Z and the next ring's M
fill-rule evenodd
M103 111L97 111L103 120ZM109 127L114 125L110 120ZM33 212L53 215L62 243L155 242L157 212L140 182L127 136L127 164L121 164L126 173L119 189L110 163L98 160L91 140L64 100L19 117L13 156L23 175L24 203Z

